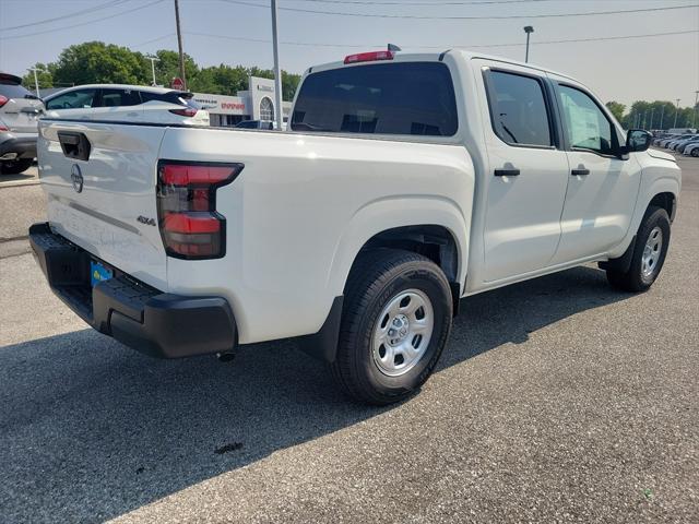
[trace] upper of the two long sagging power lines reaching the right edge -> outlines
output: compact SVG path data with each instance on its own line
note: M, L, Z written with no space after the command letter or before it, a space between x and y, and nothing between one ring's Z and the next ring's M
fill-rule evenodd
M238 5L249 5L252 8L269 9L269 5L246 2L242 0L218 0L225 3L235 3ZM283 11L294 11L298 13L312 13L312 14L328 14L334 16L358 16L366 19L412 19L412 20L514 20L514 19L561 19L572 16L597 16L606 14L629 14L629 13L650 13L656 11L671 11L677 9L692 9L699 8L699 4L691 5L672 5L667 8L645 8L645 9L627 9L616 11L591 11L582 13L548 13L548 14L505 14L505 15L490 15L490 16L433 16L433 15L419 15L419 14L369 14L369 13L348 13L340 11L319 11L313 9L304 8L279 8Z

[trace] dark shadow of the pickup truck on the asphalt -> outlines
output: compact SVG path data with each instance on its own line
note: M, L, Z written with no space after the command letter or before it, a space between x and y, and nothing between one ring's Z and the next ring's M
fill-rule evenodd
M591 267L472 297L438 371L627 297ZM0 348L0 521L104 521L390 409L295 347L164 361L84 330Z

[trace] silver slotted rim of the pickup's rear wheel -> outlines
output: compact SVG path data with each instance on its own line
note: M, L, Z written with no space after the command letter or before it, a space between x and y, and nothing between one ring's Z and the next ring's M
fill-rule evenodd
M434 326L433 303L425 293L399 293L389 300L374 327L374 362L389 377L407 373L425 355Z

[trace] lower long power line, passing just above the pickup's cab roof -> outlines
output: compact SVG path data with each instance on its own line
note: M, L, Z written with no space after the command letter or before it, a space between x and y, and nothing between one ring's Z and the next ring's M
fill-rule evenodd
M532 45L548 45L548 44L568 44L568 43L580 43L580 41L604 41L604 40L626 40L631 38L650 38L656 36L674 36L674 35L688 35L699 33L699 29L688 29L688 31L675 31L675 32L666 32L666 33L648 33L642 35L624 35L624 36L600 36L593 38L567 38L559 40L544 40L544 41L535 41ZM259 44L269 44L270 40L265 38L246 38L242 36L228 36L228 35L215 35L211 33L192 33L185 32L187 35L191 36L204 36L210 38L223 38L226 40L237 40L237 41L254 41ZM286 46L305 46L305 47L339 47L339 48L372 48L372 47L381 47L386 46L383 44L324 44L324 43L311 43L311 41L281 41L280 44L284 44ZM450 48L464 48L464 49L486 49L486 48L497 48L497 47L520 47L522 45L521 41L516 41L511 44L476 44L476 45L441 45L441 46L413 46L410 44L402 45L404 48L412 49L450 49Z

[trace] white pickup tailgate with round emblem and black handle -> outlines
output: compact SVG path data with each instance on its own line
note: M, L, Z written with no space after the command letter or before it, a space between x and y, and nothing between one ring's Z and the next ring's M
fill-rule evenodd
M166 129L42 120L37 143L51 228L162 290L167 258L157 227L156 166Z

